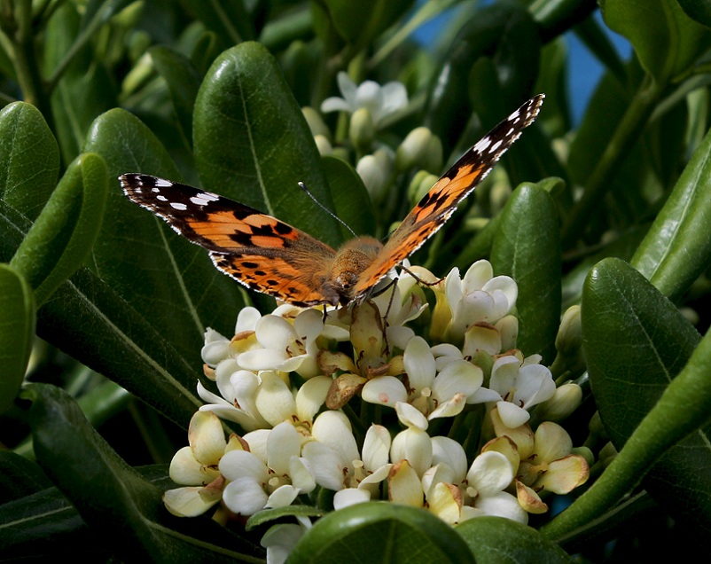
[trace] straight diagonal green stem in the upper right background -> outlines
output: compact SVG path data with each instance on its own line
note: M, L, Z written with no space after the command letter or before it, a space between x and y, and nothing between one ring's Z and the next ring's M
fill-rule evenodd
M660 88L648 77L637 90L627 112L622 116L622 121L607 144L605 152L600 156L598 166L590 174L581 200L575 204L566 217L561 233L561 243L564 250L574 247L574 244L580 239L590 215L610 189L616 169L629 155L631 146L635 144L645 129L659 98Z

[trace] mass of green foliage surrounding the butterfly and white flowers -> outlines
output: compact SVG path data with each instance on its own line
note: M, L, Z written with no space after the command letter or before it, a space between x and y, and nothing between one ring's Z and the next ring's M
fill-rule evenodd
M587 371L589 385L566 428L599 458L608 439L619 454L564 513L532 522L539 530L487 518L441 532L429 515L374 504L320 521L293 561L366 546L375 560L488 562L502 545L518 561L629 561L660 535L706 548L711 13L690 0L599 4L632 43L629 61L591 0L0 1L0 559L263 559L262 529L179 520L160 493L200 404L205 329L230 334L238 309L270 300L129 202L116 178L198 184L337 246L340 225L302 181L356 231L383 236L414 203L416 170L374 207L347 122L326 119L346 161L321 157L301 113L337 95L344 70L403 82L410 104L383 138L395 148L424 124L449 163L545 92L492 175L505 169L518 188L482 185L414 262L443 275L490 258L519 284L520 348L546 364L561 358L562 311L580 303L586 364L555 375ZM434 51L411 42L449 9ZM606 68L577 129L570 30ZM696 327L680 308L695 309ZM363 543L374 530L400 540Z

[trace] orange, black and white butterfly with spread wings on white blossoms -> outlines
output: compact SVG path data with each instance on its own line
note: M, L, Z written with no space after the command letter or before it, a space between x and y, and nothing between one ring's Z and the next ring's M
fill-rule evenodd
M123 192L209 251L215 266L245 286L308 307L361 302L421 247L487 176L534 120L538 94L473 145L410 211L385 244L371 237L335 250L304 231L218 194L156 176L119 176Z

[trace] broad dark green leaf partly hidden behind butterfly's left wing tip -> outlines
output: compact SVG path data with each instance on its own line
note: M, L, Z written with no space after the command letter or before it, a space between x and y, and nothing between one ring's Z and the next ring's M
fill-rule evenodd
M230 333L243 305L241 286L215 269L205 249L121 192L116 178L126 172L180 179L160 141L141 121L119 109L99 116L86 150L100 154L109 170L109 199L93 267L200 370L205 328Z

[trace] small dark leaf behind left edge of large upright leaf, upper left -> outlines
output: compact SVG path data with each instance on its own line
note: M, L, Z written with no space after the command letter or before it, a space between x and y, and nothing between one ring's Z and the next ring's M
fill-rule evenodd
M183 130L185 141L192 143L192 108L198 97L200 75L190 59L164 45L152 47L151 59L160 75L168 82L170 98Z

